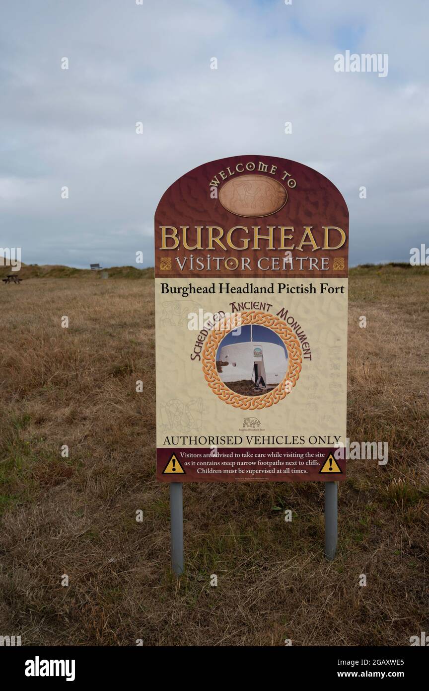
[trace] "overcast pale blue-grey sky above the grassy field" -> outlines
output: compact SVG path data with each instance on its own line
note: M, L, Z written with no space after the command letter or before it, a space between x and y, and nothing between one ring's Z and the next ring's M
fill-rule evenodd
M1 247L153 265L163 191L255 153L337 185L350 263L409 261L429 236L428 17L421 0L2 0ZM387 53L387 77L335 72L346 50Z

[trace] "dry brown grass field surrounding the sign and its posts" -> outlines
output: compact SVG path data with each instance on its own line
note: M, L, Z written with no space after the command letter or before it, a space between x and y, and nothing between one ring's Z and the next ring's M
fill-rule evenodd
M406 646L429 631L429 269L350 277L348 436L388 442L389 460L349 462L337 558L323 558L321 483L186 484L179 582L154 479L153 297L148 278L0 285L0 634Z

